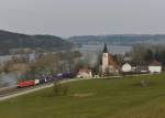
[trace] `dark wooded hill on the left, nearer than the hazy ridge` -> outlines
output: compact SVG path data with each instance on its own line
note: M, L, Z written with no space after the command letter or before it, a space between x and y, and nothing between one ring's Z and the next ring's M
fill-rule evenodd
M73 43L54 35L28 35L0 30L0 53L12 49L68 50Z

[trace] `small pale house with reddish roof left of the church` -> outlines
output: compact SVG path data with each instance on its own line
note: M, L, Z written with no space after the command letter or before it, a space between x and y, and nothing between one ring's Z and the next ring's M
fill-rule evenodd
M92 77L91 69L89 69L89 68L79 69L77 77L78 78L91 78Z

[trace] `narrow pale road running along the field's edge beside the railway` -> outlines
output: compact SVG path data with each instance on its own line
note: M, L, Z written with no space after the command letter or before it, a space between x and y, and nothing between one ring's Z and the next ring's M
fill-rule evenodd
M76 82L76 81L80 81L80 78L65 79L65 81L62 81L59 83L65 84L65 83L70 83L70 82ZM34 93L34 92L37 92L37 90L41 90L41 89L50 88L50 87L53 87L53 84L41 85L41 86L33 87L33 88L28 88L28 89L23 89L23 90L20 90L20 92L11 93L9 95L1 96L0 101L7 100L7 99L10 99L10 98L13 98L13 97L18 97L18 96L21 96L21 95Z

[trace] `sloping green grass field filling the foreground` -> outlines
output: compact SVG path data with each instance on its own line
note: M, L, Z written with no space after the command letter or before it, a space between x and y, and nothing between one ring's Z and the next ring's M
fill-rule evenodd
M1 101L0 118L165 118L165 74L68 86L67 96L48 88Z

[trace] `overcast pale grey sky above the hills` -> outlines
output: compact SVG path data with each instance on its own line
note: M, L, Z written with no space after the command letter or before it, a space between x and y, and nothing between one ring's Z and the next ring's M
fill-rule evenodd
M165 33L165 0L0 0L0 29L62 37Z

